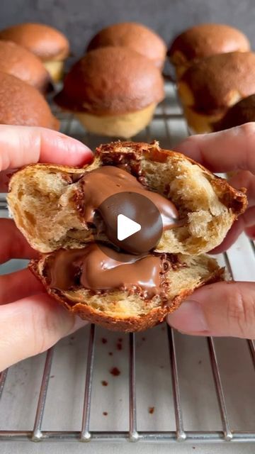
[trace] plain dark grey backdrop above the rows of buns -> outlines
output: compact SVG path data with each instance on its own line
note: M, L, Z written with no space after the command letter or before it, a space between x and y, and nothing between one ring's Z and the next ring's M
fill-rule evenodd
M254 0L1 0L0 28L23 21L60 28L76 55L93 33L118 21L145 23L166 42L196 23L229 23L241 28L255 47Z

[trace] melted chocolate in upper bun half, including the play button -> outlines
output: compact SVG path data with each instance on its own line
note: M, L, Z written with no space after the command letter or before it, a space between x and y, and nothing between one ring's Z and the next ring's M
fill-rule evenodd
M81 184L84 221L95 222L95 212L99 213L108 239L129 253L147 253L155 248L163 229L176 226L178 211L174 204L161 194L146 189L122 168L100 167L86 173ZM118 214L124 214L142 226L139 232L121 242L117 236Z

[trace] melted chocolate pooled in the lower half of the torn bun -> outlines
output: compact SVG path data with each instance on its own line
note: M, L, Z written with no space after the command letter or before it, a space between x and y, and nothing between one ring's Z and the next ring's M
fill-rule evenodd
M99 248L96 243L83 249L57 250L50 260L47 279L52 288L84 287L93 292L120 289L139 293L145 299L157 294L164 297L164 275L171 266L164 254L139 256L111 250L110 256L108 246Z

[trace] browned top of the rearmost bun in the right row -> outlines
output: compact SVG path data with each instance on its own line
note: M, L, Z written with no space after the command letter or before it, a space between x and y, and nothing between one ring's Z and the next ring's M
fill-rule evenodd
M210 55L226 52L247 52L248 38L237 28L222 23L202 23L177 36L168 55L179 79L184 72L199 60Z

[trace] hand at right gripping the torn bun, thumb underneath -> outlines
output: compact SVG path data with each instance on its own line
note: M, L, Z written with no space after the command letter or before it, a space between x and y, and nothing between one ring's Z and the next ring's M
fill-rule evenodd
M220 133L193 135L176 151L185 153L212 172L235 171L229 183L246 187L248 209L213 250L227 250L242 231L255 238L255 123ZM255 283L217 282L201 287L169 314L167 321L183 333L196 336L255 338Z

